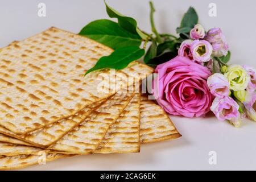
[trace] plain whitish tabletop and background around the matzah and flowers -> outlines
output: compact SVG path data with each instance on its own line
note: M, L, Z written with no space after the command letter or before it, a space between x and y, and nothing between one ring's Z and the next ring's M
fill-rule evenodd
M47 6L47 16L39 18L38 3ZM108 0L122 14L138 20L142 30L150 31L147 0ZM217 5L217 17L209 17L208 5ZM92 20L108 18L101 0L63 1L26 0L0 2L0 47L22 40L51 26L79 32ZM195 7L206 29L221 27L232 51L231 63L256 67L256 3L251 0L154 1L155 24L159 32L175 34L181 16ZM173 117L183 137L166 142L145 144L137 154L93 154L60 159L30 170L170 170L170 169L256 169L256 123L246 120L241 129L207 118ZM209 165L209 151L217 152L217 165Z

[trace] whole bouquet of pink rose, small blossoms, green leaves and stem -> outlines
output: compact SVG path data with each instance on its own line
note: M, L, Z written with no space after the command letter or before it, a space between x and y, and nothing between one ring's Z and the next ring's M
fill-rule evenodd
M176 28L179 36L159 34L150 2L152 33L148 33L135 19L105 5L110 18L117 22L95 20L79 34L114 52L101 57L85 75L104 68L122 69L144 56L144 63L158 73L152 94L167 113L192 118L204 117L211 110L217 119L236 127L244 117L256 121L256 71L247 65L228 64L231 54L221 28L205 31L195 9L189 7Z

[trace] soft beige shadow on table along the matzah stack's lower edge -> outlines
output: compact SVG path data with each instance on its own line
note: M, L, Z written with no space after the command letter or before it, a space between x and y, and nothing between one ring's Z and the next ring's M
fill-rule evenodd
M36 165L25 168L27 170L65 170L70 166L75 170L118 170L119 166L152 165L157 160L157 153L162 150L175 150L188 144L184 138L166 140L158 143L148 143L141 145L141 152L130 154L93 154L80 155L70 158L59 159L49 162L46 165ZM168 156L170 158L172 156ZM131 168L132 169L132 168Z

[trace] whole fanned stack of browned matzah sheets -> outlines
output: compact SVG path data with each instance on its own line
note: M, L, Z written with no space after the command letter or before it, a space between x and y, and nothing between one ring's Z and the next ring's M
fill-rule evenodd
M111 52L57 28L0 49L0 169L139 152L142 143L181 136L160 106L135 92L152 68L133 61L84 77Z

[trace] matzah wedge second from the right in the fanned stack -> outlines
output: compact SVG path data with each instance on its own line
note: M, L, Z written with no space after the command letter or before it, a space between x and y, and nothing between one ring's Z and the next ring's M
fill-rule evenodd
M140 96L141 94L134 95L94 153L139 152Z

